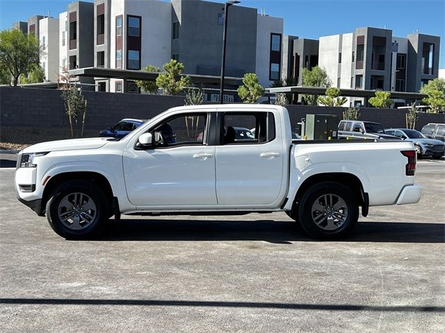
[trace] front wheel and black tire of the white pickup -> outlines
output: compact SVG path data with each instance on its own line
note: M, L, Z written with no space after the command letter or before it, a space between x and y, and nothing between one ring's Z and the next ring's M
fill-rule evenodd
M53 191L47 202L46 212L49 225L59 236L66 239L88 239L104 227L104 221L108 219L110 212L110 203L104 191L94 183L72 180L59 185ZM65 219L67 220L62 221Z

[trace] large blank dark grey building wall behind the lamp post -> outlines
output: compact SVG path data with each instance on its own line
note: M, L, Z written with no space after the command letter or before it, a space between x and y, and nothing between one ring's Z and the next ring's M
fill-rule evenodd
M223 51L223 3L172 0L173 19L181 24L179 39L172 40L172 53L179 53L187 74L220 75ZM242 33L240 33L242 32ZM230 6L227 24L225 75L242 77L255 72L257 9Z

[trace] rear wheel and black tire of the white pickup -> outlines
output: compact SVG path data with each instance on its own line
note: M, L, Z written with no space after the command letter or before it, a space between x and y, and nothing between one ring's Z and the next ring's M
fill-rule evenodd
M358 218L359 206L353 192L338 182L320 182L310 187L299 203L301 226L315 239L346 237Z

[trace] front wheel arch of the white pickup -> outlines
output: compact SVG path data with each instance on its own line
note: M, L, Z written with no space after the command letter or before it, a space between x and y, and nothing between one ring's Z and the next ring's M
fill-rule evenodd
M56 189L56 187L58 187L60 184L63 184L64 182L70 180L86 180L87 182L94 183L104 191L106 198L110 203L110 206L113 204L113 189L111 189L111 185L108 179L101 173L92 171L64 172L58 173L57 175L49 178L47 185L45 185L42 195L42 214L45 213L44 210L47 205L47 201L49 200L49 196L54 191L54 189Z

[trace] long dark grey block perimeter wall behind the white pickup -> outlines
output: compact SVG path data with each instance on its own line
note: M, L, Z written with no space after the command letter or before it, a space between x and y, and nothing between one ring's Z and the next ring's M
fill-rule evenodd
M125 117L148 119L179 105L182 96L83 92L88 101L86 129L104 129ZM288 105L293 126L305 114L337 114L344 108ZM405 110L360 109L360 119L378 121L385 127L405 127ZM445 123L445 114L419 114L416 129L426 123ZM60 90L0 87L0 124L5 127L63 128L68 126ZM1 131L0 128L0 131ZM44 139L44 138L43 138Z

